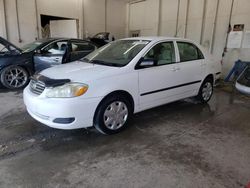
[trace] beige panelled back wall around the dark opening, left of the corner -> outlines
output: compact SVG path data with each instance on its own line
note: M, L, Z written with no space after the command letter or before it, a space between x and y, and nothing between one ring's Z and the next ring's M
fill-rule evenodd
M122 38L125 36L126 0L106 1L105 3L105 0L0 0L0 36L17 46L41 38L40 15L43 14L78 20L80 38L103 32L105 28L116 38Z

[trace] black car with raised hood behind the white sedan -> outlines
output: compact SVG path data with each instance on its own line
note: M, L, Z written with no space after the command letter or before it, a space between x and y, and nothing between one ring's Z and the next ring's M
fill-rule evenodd
M49 38L21 48L0 37L0 81L9 89L26 86L35 72L83 58L98 48L88 40Z

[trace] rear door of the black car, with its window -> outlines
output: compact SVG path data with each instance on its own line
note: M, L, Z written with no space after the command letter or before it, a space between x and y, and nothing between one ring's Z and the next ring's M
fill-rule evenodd
M71 40L70 42L70 55L69 55L69 61L76 61L79 60L89 53L93 52L97 47L92 44L89 41L77 41L77 40Z

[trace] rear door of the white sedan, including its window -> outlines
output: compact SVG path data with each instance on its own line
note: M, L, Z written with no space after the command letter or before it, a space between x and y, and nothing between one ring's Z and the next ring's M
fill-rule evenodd
M180 93L183 94L183 98L196 95L202 81L204 56L193 43L177 41L176 44L179 52L176 79L183 85Z

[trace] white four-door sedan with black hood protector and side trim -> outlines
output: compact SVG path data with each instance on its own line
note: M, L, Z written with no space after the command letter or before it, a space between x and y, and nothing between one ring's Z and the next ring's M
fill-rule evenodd
M221 64L186 39L129 38L35 75L24 90L29 114L58 129L95 126L114 134L134 113L196 96L206 103Z

